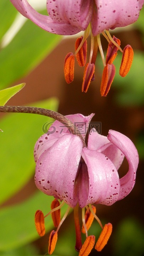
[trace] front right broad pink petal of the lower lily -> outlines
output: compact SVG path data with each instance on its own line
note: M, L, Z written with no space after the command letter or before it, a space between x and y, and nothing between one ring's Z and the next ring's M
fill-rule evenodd
M114 164L102 153L86 148L82 149L82 158L87 165L89 174L89 193L85 205L89 203L106 205L115 203L118 200L120 183ZM83 193L85 193L84 189L81 191L81 194ZM78 202L82 204L80 196Z

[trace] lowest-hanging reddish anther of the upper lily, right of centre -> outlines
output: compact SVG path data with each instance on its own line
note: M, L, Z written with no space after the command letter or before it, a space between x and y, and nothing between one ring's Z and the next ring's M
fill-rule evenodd
M107 64L103 69L102 80L101 80L101 96L107 96L111 84L113 82L114 76L116 74L116 69L113 64Z

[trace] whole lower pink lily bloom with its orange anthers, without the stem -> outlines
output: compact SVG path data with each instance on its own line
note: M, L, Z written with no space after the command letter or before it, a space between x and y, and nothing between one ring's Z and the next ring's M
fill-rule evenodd
M94 114L87 117L74 114L66 117L75 126L77 125L77 128L83 124L85 132L81 134L85 139L93 116ZM124 156L128 161L129 169L124 177L119 178L118 169ZM62 124L55 121L48 133L38 139L34 148L34 159L36 161L36 186L43 193L55 198L48 214L44 216L38 210L35 215L39 235L42 236L45 233L44 218L49 214L52 214L54 226L57 227L57 230L53 230L50 234L48 253L52 254L54 251L58 230L70 208L74 209L75 249L79 251L79 256L89 255L94 247L95 236L88 235L94 218L102 228L95 245L95 249L101 251L111 235L112 224L102 225L93 204L111 206L126 197L132 190L139 161L137 149L132 141L114 130L110 130L108 136L105 137L92 129L86 147L78 135L71 134L64 126L62 129ZM60 219L60 208L64 203L68 205L68 208L63 218ZM82 211L82 229L79 223L79 208ZM86 235L83 245L81 232Z

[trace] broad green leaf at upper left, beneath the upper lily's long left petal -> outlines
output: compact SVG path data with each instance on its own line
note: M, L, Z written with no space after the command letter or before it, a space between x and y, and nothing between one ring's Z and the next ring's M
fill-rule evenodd
M38 65L61 38L27 20L13 40L0 51L0 90Z

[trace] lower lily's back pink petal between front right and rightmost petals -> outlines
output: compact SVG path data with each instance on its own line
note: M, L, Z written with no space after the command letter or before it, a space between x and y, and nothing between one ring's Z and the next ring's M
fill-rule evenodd
M123 162L124 155L121 150L113 145L106 136L98 134L96 130L89 134L88 148L106 155L113 162L117 170Z

